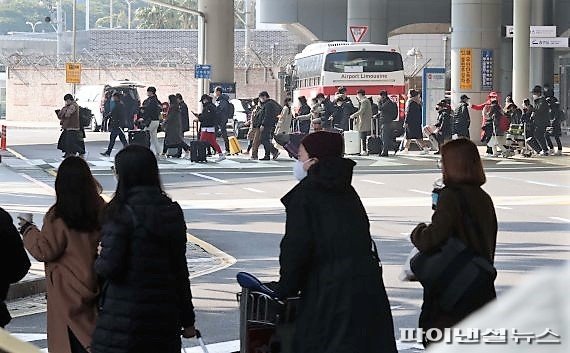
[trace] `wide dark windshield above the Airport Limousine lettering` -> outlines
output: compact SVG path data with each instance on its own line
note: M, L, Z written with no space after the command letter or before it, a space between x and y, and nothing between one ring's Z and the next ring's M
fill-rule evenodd
M404 69L402 56L387 51L347 51L328 54L325 71L349 72L392 72Z

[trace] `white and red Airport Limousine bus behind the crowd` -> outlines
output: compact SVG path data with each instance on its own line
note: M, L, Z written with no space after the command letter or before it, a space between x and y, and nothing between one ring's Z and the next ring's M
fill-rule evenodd
M295 56L292 70L293 98L305 96L310 101L318 93L334 95L340 86L353 99L364 89L376 102L380 91L387 91L400 107L405 106L404 64L398 49L388 45L329 42L308 45Z

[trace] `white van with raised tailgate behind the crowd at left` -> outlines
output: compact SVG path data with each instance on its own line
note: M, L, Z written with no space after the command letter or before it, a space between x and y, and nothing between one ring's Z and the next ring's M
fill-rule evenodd
M91 130L100 131L103 124L103 113L101 110L104 103L105 92L120 92L123 95L123 103L125 104L127 115L133 117L137 114L138 108L141 105L138 88L142 87L145 86L129 80L113 81L106 85L79 86L75 99L79 106L87 108L93 113ZM128 119L128 122L129 124L132 123L132 119Z

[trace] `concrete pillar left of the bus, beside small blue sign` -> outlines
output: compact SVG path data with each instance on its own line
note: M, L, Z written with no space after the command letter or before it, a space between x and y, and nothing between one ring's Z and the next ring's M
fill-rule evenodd
M206 64L212 65L212 82L234 82L234 2L199 0L206 14Z

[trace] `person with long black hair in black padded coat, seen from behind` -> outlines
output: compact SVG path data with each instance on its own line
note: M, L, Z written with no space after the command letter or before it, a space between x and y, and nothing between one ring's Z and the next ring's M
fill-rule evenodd
M180 335L195 335L184 213L148 148L121 150L115 172L95 261L103 288L91 353L180 353Z

